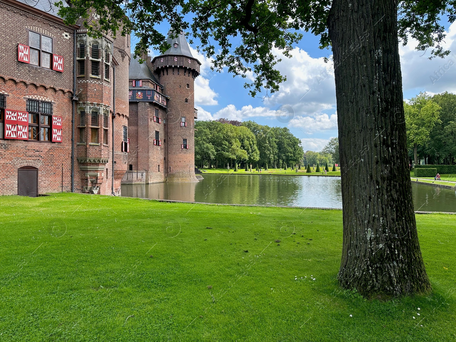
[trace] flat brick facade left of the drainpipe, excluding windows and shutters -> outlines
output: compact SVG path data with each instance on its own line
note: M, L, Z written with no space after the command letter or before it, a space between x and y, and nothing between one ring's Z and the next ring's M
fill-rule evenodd
M64 57L63 73L18 62L17 44L28 45L28 30L52 37L53 52ZM2 2L0 39L0 92L8 94L7 108L26 111L25 98L39 98L52 102L54 115L62 116L62 143L0 140L0 194L17 194L22 166L38 168L39 193L62 191L63 167L63 191L70 191L73 28Z

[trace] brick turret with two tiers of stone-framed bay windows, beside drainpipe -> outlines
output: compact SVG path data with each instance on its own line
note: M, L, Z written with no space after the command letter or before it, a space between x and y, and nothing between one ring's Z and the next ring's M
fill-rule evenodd
M114 39L91 37L85 28L77 31L77 192L120 195L120 181L127 171L129 50L130 35Z

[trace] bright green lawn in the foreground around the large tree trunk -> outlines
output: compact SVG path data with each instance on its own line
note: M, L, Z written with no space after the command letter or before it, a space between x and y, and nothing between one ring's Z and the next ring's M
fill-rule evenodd
M339 210L0 205L0 341L456 341L456 215L416 217L433 292L380 302L337 285Z

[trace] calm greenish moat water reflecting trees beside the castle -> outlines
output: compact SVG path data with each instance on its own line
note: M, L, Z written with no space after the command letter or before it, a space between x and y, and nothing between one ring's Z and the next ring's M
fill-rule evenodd
M204 174L195 183L122 185L122 196L185 202L342 208L340 177ZM417 211L456 212L456 192L412 182Z

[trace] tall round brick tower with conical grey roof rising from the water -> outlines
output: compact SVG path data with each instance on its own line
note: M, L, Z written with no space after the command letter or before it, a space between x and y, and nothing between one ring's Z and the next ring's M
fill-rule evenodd
M169 98L166 115L166 181L198 181L195 176L194 80L201 63L192 56L183 32L151 61L151 69Z

